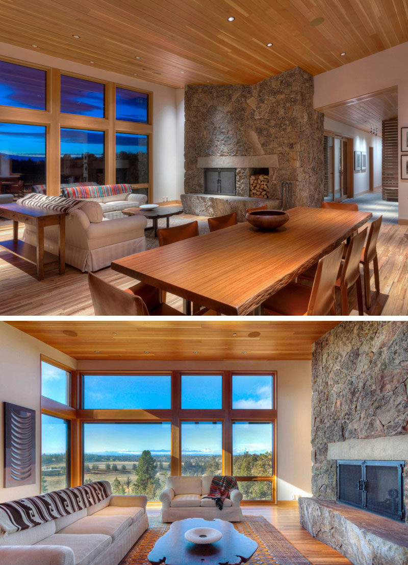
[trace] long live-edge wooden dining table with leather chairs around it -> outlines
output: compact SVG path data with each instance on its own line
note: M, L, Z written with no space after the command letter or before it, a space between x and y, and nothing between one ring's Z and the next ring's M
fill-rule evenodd
M335 249L371 212L297 207L274 231L248 222L113 261L112 269L226 315L261 315L262 303Z

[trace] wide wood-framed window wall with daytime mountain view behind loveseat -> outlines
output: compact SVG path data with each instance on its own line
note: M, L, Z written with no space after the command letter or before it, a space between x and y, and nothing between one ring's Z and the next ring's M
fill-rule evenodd
M82 482L146 484L157 501L169 475L222 473L244 504L275 502L275 372L87 371L80 383Z

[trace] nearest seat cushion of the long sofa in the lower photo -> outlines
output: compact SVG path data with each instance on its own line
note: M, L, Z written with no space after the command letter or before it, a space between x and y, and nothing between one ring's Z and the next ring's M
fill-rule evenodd
M102 534L63 534L55 533L36 545L65 545L71 547L75 556L75 565L89 565L112 544L112 538ZM38 564L40 565L40 563Z

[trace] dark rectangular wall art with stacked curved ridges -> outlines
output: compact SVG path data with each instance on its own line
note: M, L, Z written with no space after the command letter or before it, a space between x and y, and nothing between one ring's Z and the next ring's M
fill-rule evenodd
M4 486L36 483L36 411L3 402Z

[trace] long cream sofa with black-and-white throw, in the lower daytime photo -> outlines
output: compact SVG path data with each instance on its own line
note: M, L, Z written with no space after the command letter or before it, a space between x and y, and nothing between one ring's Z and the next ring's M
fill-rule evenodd
M148 528L146 505L145 496L113 496L107 481L3 503L0 563L118 565ZM82 508L72 512L72 506ZM38 520L42 523L31 525L38 517L37 509L46 509ZM19 512L25 529L18 529ZM48 519L52 514L64 515ZM7 520L8 515L12 521Z

